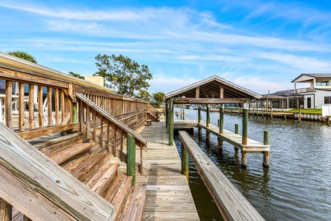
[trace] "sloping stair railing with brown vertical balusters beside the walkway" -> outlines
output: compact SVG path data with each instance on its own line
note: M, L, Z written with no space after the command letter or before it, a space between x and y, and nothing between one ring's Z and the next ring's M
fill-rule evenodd
M132 128L123 124L120 119L110 115L107 111L103 110L100 106L94 103L93 100L88 99L88 97L77 93L77 98L79 99L79 121L81 124L81 133L85 134L88 138L94 140L98 143L101 148L106 148L106 150L112 153L115 157L123 162L128 162L128 159L132 156L129 153L134 154L135 151L126 148L125 144L127 142L128 135L132 137L134 143L140 147L140 162L137 162L136 165L141 174L145 174L146 171L143 168L143 150L147 150L147 141L136 133ZM144 113L142 113L144 114ZM138 117L139 113L135 114L135 117ZM123 121L124 119L122 119ZM138 122L136 120L135 122ZM130 148L134 148L135 145ZM127 167L129 167L127 165ZM134 175L133 175L134 176Z

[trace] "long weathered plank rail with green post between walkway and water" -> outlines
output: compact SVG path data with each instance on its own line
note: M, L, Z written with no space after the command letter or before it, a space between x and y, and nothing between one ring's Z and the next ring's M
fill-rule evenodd
M224 220L264 220L220 169L203 153L192 137L179 131L181 139L182 173L188 177L188 155Z

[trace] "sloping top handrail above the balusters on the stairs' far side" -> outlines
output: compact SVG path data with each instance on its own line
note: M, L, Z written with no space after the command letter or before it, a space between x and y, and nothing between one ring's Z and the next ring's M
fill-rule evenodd
M94 111L97 111L100 115L108 119L110 122L121 128L126 133L130 134L134 139L138 140L141 145L139 145L143 149L147 149L147 140L143 138L139 133L133 131L130 127L126 126L126 124L121 123L116 117L110 115L110 113L104 111L102 108L97 106L97 104L94 104L90 99L82 95L81 93L76 94L77 98L79 98L83 103L87 104L90 108L92 108Z

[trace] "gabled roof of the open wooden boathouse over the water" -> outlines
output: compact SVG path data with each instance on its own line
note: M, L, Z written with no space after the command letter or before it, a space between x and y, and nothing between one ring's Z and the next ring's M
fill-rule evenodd
M224 88L224 98L249 98L261 99L261 95L232 83L222 77L214 75L194 84L174 90L165 95L165 99L170 97L196 97L196 88L199 87L200 98L220 98L220 87Z

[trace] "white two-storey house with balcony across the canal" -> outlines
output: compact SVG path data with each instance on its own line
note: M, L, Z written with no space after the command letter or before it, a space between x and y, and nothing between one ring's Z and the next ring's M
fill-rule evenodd
M331 104L331 74L302 74L291 81L294 89L281 90L272 95L286 97L283 108L322 108ZM297 88L298 83L309 83L309 88ZM280 99L274 99L274 108L281 108Z

